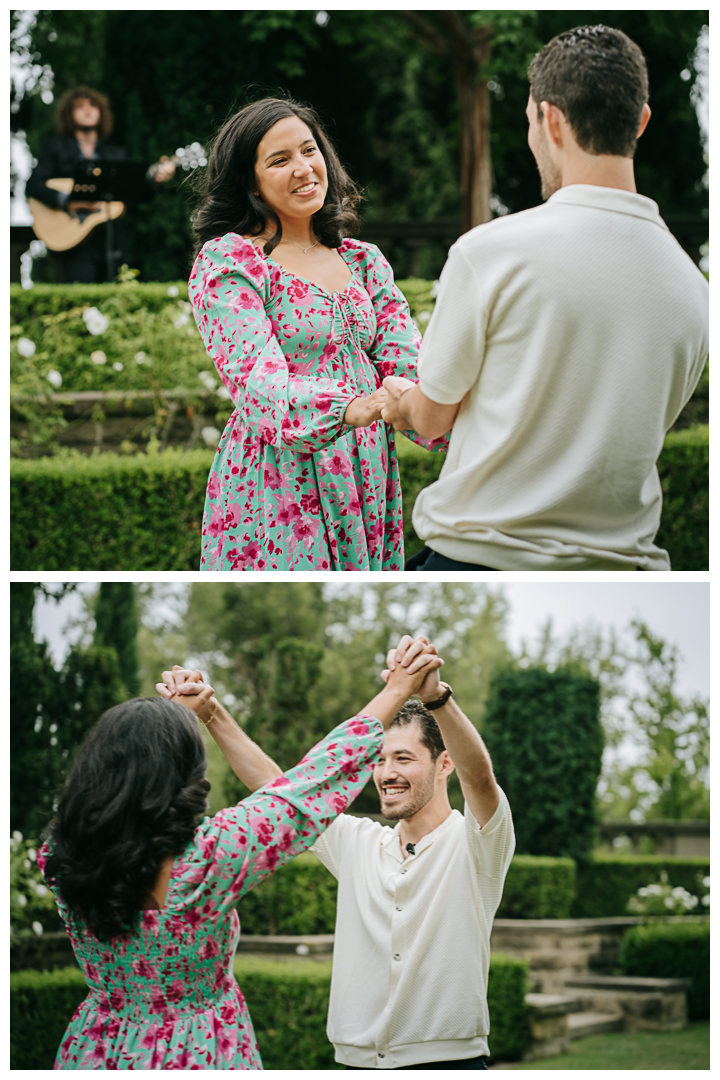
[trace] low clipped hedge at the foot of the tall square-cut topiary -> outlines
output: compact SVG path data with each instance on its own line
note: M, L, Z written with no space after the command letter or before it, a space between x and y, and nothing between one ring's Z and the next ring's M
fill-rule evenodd
M497 918L567 919L574 899L574 859L515 855L505 878Z

